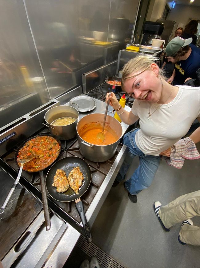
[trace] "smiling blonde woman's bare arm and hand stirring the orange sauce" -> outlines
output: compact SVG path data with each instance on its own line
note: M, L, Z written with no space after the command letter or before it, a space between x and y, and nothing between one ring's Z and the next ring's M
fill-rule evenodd
M106 102L109 100L109 104L115 110L118 110L120 105L119 105L119 102L118 102L116 96L114 95L113 92L111 93L110 97L108 95L109 95L109 93L107 93L107 95L106 95ZM123 107L117 111L117 114L121 118L122 122L124 122L127 125L132 125L139 119L139 117L134 115L131 111L130 112L125 111Z

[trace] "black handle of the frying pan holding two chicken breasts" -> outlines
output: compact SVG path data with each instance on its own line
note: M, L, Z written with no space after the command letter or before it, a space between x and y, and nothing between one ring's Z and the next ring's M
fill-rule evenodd
M81 201L80 198L75 200L75 206L76 206L78 214L81 218L87 241L90 243L90 242L92 242L93 237L92 237L92 234L90 232L90 227L89 227L87 219L86 219L86 215L85 215L85 211L84 211L84 207L83 207L83 202Z

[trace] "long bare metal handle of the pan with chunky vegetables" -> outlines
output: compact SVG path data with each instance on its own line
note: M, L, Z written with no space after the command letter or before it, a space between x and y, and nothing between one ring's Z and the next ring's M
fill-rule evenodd
M44 209L44 221L45 221L46 231L49 231L51 228L51 221L50 221L50 215L49 215L49 206L47 202L46 187L44 183L43 171L40 171L39 174L40 174L40 185L41 185L41 192L42 192L42 203L43 203L43 209Z

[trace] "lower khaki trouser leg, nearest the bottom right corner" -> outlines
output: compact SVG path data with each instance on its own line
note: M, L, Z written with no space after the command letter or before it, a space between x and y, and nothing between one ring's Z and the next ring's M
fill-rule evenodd
M182 242L188 245L200 246L200 227L183 224L179 235Z

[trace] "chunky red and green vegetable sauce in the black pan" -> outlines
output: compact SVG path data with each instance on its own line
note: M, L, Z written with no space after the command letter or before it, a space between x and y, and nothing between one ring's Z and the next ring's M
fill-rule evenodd
M28 156L36 155L32 160L24 164L23 170L28 172L41 171L56 160L59 152L60 145L56 139L50 136L38 136L27 141L19 150L17 162Z

